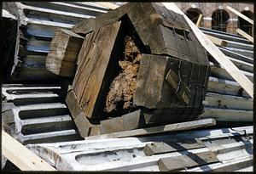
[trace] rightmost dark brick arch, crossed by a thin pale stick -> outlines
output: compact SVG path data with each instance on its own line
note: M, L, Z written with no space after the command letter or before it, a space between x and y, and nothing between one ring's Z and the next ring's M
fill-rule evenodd
M253 12L242 11L241 14L244 14L249 19L253 20ZM247 22L247 20L243 20L241 17L238 17L237 28L240 28L242 31L245 31L248 35L253 36L253 25Z

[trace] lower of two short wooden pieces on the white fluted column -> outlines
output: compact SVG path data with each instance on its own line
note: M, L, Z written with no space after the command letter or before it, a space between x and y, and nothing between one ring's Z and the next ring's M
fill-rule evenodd
M179 171L189 167L203 166L218 162L217 156L212 152L201 152L198 154L186 154L182 156L163 158L159 160L160 171Z

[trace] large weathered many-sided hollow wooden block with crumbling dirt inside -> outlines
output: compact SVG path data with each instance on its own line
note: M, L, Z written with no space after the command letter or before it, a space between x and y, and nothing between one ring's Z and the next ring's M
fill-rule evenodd
M121 121L119 129L107 128L119 132L201 114L210 65L182 15L161 3L128 3L83 20L73 31L85 38L67 106L74 98L79 104L73 118L83 137L90 135L88 122L101 124L96 132L104 133ZM128 113L132 123L125 123ZM113 121L102 121L109 117ZM83 122L90 125L85 130Z

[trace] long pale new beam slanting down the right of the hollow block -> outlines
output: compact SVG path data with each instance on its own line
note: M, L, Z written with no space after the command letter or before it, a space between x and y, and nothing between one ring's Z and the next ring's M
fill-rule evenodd
M183 14L183 12L177 8L175 3L163 3L166 8L172 10L178 14ZM212 55L214 59L218 61L220 65L224 67L225 70L232 76L240 85L243 87L247 93L253 98L253 82L250 81L247 76L245 76L237 67L234 65L230 59L228 59L224 53L222 53L212 41L205 36L205 34L191 21L189 18L183 14L184 18L189 23L192 31L194 31L195 36L201 42L201 45L207 49L208 53Z

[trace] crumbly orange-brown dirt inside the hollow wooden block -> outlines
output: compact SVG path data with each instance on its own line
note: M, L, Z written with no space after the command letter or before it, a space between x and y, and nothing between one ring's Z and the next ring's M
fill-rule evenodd
M119 60L120 73L109 87L105 107L105 111L108 113L120 107L123 109L132 107L141 53L131 36L125 36L124 57L124 59Z

